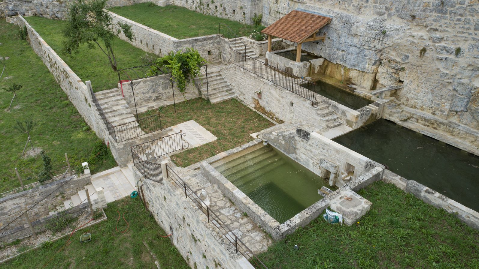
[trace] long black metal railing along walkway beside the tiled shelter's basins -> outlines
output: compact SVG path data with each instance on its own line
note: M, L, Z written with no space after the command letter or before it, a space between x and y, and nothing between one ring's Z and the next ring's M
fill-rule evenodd
M314 107L318 106L318 101L316 100L316 90L309 90L301 85L316 85L316 83L300 78L296 75L293 75L289 72L283 71L277 67L270 66L265 62L262 62L258 59L247 56L244 52L239 52L230 48L230 60L229 62L233 65L241 67L243 70L247 70L258 77L264 78L273 84L278 85L281 88L291 91L307 100L311 101L311 105Z

